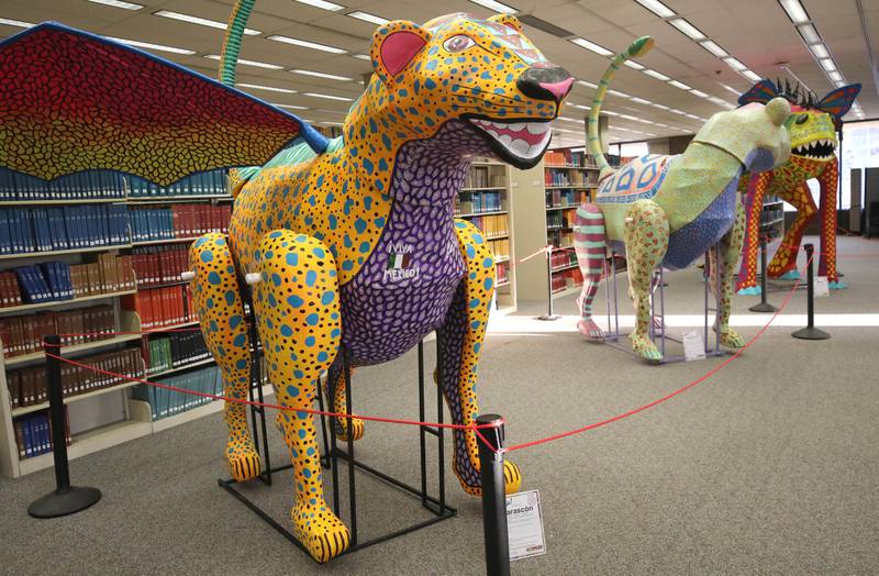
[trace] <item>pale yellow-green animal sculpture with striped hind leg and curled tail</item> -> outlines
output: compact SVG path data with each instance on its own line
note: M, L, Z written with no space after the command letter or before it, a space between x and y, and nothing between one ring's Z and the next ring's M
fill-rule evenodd
M715 330L727 347L741 347L742 337L730 328L733 267L742 250L745 213L736 185L744 170L759 173L788 159L790 142L785 120L790 104L776 98L765 107L752 104L714 114L696 134L683 154L648 155L614 171L601 152L598 115L614 73L627 58L646 53L653 40L636 40L617 55L596 90L589 113L589 148L601 174L594 203L577 209L574 244L583 275L578 298L580 333L601 340L592 320L592 300L602 278L607 248L625 254L628 293L636 309L630 335L634 351L650 361L661 359L650 341L650 281L657 266L689 266L721 243L721 263L711 251L711 274L721 274L721 307ZM716 286L716 278L711 281Z

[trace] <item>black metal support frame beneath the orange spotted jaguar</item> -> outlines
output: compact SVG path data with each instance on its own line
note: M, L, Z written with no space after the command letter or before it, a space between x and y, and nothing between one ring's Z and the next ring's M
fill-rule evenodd
M420 421L424 421L425 418L425 402L424 402L424 346L422 343L419 343L419 419ZM345 397L346 397L346 409L347 413L352 413L352 394L351 394L351 356L347 348L344 346L340 350L340 354L342 354L342 374L345 378ZM437 346L436 346L436 363L437 363L437 370L442 370L442 357L441 357L441 350L439 350L439 341L437 339ZM332 394L327 395L326 400L324 400L323 388L319 386L318 391L318 402L319 409L324 411L324 403L329 406L332 412L337 412L337 407L334 406L334 398ZM437 407L437 422L443 423L443 394L441 388L436 387L436 407ZM263 430L263 445L264 452L267 452L266 442L265 442L265 412L260 410L257 412L258 417L254 417L255 420L258 420L262 425ZM330 424L327 427L327 423ZM431 524L435 524L436 522L441 522L443 520L453 518L457 514L457 509L448 506L446 503L446 495L445 495L445 468L444 468L444 431L443 428L437 427L419 427L419 440L420 440L420 457L421 457L421 488L415 488L410 486L392 476L385 474L363 462L358 461L355 457L354 453L354 436L351 433L352 427L351 424L347 427L348 434L346 441L346 450L342 450L336 442L336 430L338 430L338 422L335 417L324 417L321 416L321 433L323 436L323 444L324 444L324 454L325 456L321 458L321 463L324 467L330 468L333 479L333 511L342 518L341 516L341 507L340 507L340 492L338 492L338 470L340 470L340 461L346 464L347 467L347 475L348 475L348 529L351 530L351 545L344 552L344 554L351 554L352 552L356 552L358 550L365 549L367 546L371 546L374 544L378 544L398 536L402 536L409 534L410 532L414 532L415 530L426 528ZM256 427L254 427L256 429ZM330 431L327 432L327 428ZM436 436L437 440L437 472L438 472L438 495L436 497L431 496L427 492L427 456L426 456L426 434L432 434ZM278 473L281 470L286 470L292 468L292 464L286 464L282 466L278 466L275 468L266 467L266 472L264 475L268 475L268 480L264 481L266 484L271 484L271 474ZM357 489L356 489L356 473L364 472L367 473L376 478L385 480L386 483L390 484L394 488L398 488L403 491L403 494L413 496L415 498L421 499L421 505L424 509L429 510L433 516L427 520L418 522L410 527L396 530L388 534L383 534L380 536L372 538L367 541L361 541L357 530ZM502 472L502 470L501 470ZM269 524L271 528L277 530L282 536L287 540L292 542L301 551L309 554L308 550L299 542L296 535L289 530L287 527L280 524L275 519L272 519L265 510L259 508L259 506L251 500L247 496L245 496L241 490L237 489L237 483L234 479L220 479L218 480L220 486L232 494L235 498L241 500L247 508L253 510L264 522ZM503 491L503 477L501 476L501 492ZM309 557L311 555L309 554Z

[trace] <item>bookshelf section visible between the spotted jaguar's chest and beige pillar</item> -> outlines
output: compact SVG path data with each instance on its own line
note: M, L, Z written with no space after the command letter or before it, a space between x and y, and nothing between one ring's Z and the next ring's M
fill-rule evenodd
M455 202L455 218L468 220L482 231L494 254L496 308L515 309L515 262L510 221L512 211L510 166L476 158Z

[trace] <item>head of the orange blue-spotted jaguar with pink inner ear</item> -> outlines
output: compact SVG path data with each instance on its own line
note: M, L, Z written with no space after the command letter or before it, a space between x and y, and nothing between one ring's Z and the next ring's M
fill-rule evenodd
M536 165L574 77L546 60L511 15L463 13L423 26L393 21L372 36L367 88L398 137L427 139L450 121L475 131L499 159Z

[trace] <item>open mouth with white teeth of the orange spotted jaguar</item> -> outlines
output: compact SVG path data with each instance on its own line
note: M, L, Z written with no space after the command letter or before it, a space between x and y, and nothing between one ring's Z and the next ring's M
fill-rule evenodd
M539 162L552 137L549 121L497 121L469 119L486 136L492 149L516 167L531 167Z

